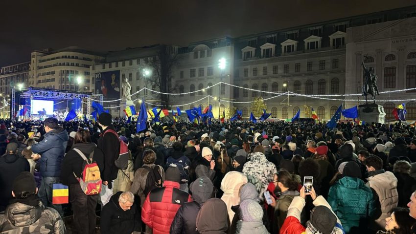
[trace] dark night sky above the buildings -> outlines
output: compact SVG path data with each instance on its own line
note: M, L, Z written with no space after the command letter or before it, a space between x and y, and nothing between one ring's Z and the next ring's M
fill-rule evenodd
M414 4L415 0L3 0L0 67L29 61L35 49L75 45L107 52L156 43L186 45Z

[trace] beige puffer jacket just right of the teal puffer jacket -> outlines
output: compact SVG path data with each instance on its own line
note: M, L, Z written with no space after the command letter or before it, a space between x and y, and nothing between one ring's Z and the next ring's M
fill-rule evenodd
M390 211L398 204L397 178L392 172L386 171L370 176L367 180L366 185L377 193L381 205L381 215L375 222L380 226L379 229L384 229L385 219L390 216Z

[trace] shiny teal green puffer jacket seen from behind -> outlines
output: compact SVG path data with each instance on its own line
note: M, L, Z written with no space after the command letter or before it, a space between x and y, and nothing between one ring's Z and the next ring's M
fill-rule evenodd
M358 233L376 210L371 189L359 178L343 177L330 189L328 203L341 220L346 233ZM363 221L361 222L360 221Z

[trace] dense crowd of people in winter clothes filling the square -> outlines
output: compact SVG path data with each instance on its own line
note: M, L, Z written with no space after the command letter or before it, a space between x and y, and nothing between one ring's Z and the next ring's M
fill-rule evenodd
M416 234L415 133L267 121L136 133L108 113L2 121L0 233Z

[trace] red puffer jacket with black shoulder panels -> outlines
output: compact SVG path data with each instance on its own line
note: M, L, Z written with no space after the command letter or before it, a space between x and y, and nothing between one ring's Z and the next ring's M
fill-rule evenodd
M179 190L179 183L166 180L162 188L152 190L146 197L141 220L153 229L153 234L169 234L176 212L182 204L190 201L191 196Z

